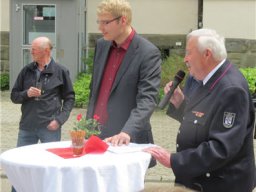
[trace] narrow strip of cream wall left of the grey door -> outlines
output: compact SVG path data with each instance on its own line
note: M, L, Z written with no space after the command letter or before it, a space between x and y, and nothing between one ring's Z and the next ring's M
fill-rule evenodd
M10 30L9 1L10 0L0 0L1 31L9 31Z

